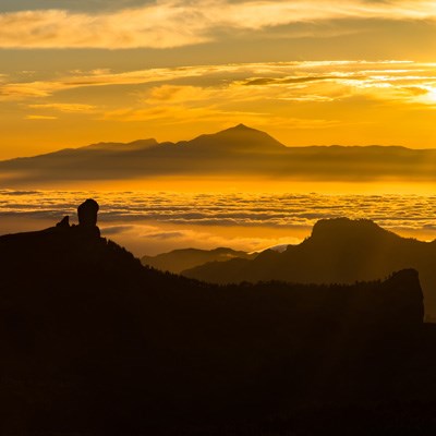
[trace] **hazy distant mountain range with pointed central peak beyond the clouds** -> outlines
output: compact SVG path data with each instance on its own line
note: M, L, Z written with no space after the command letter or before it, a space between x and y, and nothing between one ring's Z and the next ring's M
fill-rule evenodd
M436 180L436 149L399 146L287 147L239 124L179 143L99 143L0 161L0 186L154 177L265 177L274 180Z

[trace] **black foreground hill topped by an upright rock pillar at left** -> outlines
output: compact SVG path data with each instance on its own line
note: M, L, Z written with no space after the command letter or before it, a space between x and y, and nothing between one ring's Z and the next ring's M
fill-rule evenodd
M78 226L0 237L2 434L435 429L414 270L209 286L143 267L85 205Z

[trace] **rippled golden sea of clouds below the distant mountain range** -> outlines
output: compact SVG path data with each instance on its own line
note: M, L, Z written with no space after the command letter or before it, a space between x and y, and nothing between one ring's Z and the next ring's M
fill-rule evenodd
M70 215L75 222L76 205L86 197L101 205L104 235L138 255L186 246L258 251L298 243L317 220L337 217L368 218L405 235L436 235L436 196L419 195L0 191L0 218L55 223Z

